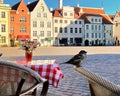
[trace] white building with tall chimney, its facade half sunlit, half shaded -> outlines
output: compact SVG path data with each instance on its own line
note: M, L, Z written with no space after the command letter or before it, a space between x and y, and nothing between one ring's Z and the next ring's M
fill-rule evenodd
M74 7L62 6L52 11L54 45L84 45L84 20L79 19ZM62 6L62 7L61 7Z

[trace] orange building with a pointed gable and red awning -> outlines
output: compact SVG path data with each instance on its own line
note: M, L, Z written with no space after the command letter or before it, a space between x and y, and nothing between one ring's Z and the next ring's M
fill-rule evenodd
M10 11L11 45L14 45L14 41L26 39L30 39L30 15L24 0L21 0Z

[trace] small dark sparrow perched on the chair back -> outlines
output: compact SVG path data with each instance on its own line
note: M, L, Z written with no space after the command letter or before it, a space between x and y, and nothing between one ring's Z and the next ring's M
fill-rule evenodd
M85 50L81 50L78 54L73 56L70 60L64 63L75 65L76 67L81 67L81 64L87 57L87 52Z

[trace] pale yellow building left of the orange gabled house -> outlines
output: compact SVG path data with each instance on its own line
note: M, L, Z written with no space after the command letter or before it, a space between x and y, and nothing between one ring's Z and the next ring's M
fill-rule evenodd
M9 46L9 16L10 6L0 2L0 46Z

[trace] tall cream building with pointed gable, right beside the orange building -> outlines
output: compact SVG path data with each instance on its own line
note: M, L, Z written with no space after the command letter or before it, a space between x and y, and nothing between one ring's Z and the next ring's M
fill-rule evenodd
M31 40L37 40L41 46L53 45L52 13L44 0L36 0L27 5L30 11Z

